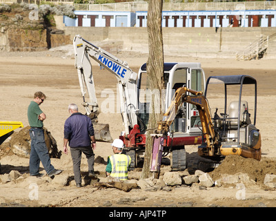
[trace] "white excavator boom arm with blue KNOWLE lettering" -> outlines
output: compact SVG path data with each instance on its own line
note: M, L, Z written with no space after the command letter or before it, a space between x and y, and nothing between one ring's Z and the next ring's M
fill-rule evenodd
M121 61L105 50L91 44L76 35L73 41L75 50L75 67L79 75L79 85L83 96L83 106L87 115L97 113L99 106L95 93L95 82L92 75L90 58L97 61L101 66L110 71L118 81L121 115L123 117L126 135L129 134L129 127L133 128L137 124L138 101L137 101L137 73L133 72L126 61ZM86 102L86 89L90 97L90 102ZM92 106L90 111L89 106Z

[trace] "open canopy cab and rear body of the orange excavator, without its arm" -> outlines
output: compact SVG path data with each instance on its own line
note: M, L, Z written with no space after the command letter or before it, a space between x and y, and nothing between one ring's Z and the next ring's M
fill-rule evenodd
M205 95L209 106L216 109L213 117L218 137L215 155L235 154L260 160L262 151L261 134L256 128L256 79L248 75L211 76L206 81ZM203 143L199 146L199 155L210 156L207 149Z

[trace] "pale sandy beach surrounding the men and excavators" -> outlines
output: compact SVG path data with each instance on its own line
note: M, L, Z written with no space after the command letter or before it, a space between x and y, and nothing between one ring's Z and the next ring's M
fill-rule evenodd
M27 108L35 91L41 90L47 99L41 104L41 109L47 115L44 126L50 131L57 147L62 151L63 124L69 117L68 104L75 103L79 111L84 113L81 106L82 98L72 55L64 56L66 52L3 52L0 53L0 94L1 94L1 121L21 121L28 126ZM116 55L128 61L132 70L138 72L139 66L144 64L148 55L134 52L121 52ZM197 59L193 57L172 57L165 55L165 61L200 62L206 73L211 75L241 75L246 74L257 79L257 128L262 134L262 160L276 159L275 138L276 119L276 63L273 60L260 59L251 61L236 61L234 59ZM100 70L98 64L92 61L93 76L95 79L98 102L101 91L111 89L117 93L117 80L107 70ZM120 113L105 113L101 111L99 123L109 124L113 139L119 137L124 126ZM19 131L20 129L17 129ZM188 153L197 152L197 146L186 146ZM95 157L103 157L106 161L112 154L108 142L97 142ZM246 200L237 198L235 184L220 187L199 188L198 184L192 186L174 186L170 191L146 191L132 189L129 192L114 188L96 188L91 185L77 189L72 180L68 186L61 185L62 177L73 177L72 160L70 154L61 155L60 159L51 159L56 169L61 169L61 175L54 179L50 177L30 177L28 174L28 158L17 155L2 155L1 173L19 171L21 178L3 183L0 182L0 204L2 206L276 206L276 193L262 184L246 184ZM106 165L95 163L95 171L103 176ZM41 173L46 173L41 165ZM86 157L83 155L81 171L88 170ZM274 170L274 168L273 168ZM163 166L161 173L170 171L170 166ZM130 172L130 178L139 179L141 169ZM187 171L179 172L182 176ZM32 198L33 186L37 185L38 197Z

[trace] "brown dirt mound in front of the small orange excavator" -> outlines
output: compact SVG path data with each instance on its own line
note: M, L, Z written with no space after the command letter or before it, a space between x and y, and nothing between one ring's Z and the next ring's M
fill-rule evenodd
M228 155L214 171L210 172L210 176L213 180L217 180L221 174L233 175L235 173L247 173L250 179L263 183L266 174L276 175L276 161L266 157L258 161L239 155Z

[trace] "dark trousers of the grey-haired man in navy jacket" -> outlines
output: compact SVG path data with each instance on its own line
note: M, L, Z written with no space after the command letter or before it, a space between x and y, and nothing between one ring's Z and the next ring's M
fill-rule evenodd
M94 171L95 154L91 146L71 147L73 171L76 184L81 184L81 153L84 153L88 162L88 171Z

